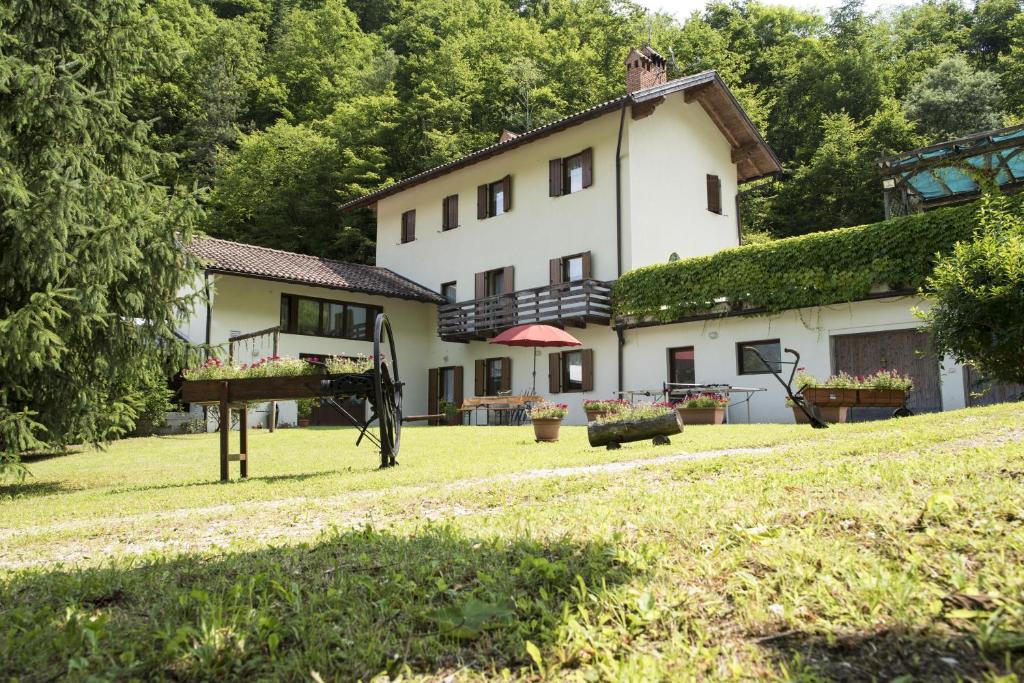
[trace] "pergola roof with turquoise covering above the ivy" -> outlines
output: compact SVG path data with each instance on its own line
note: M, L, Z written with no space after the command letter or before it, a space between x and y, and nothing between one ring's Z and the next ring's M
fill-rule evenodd
M1024 186L1024 125L975 133L887 157L879 162L886 185L922 208L964 202L978 195L974 171L990 175L1004 191Z

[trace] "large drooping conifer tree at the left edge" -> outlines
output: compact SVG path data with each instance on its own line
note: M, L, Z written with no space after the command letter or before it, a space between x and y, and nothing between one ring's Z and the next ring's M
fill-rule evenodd
M0 459L126 433L180 351L195 198L126 114L154 29L135 0L0 8ZM159 58L160 55L157 55Z

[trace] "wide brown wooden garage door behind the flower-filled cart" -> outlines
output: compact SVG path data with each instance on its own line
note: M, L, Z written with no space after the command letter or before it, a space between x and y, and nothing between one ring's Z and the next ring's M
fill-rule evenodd
M914 413L942 410L939 362L928 335L916 330L891 330L831 338L833 372L870 375L879 370L895 370L913 378L907 408ZM879 420L892 415L890 409L855 408L855 422Z

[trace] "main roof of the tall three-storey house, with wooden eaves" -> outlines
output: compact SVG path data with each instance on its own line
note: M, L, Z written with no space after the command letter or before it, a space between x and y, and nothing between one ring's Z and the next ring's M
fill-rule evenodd
M651 88L621 95L582 112L577 112L563 119L558 119L544 126L528 130L516 137L505 138L482 150L470 153L465 157L427 169L404 180L399 180L374 193L347 202L341 205L340 208L342 211L348 211L350 209L372 206L378 200L385 197L396 195L414 185L481 162L484 159L489 159L509 150L528 144L534 140L547 137L552 133L590 121L591 119L596 119L603 114L622 106L645 102L655 103L660 98L677 92L684 93L687 101L699 102L712 121L715 122L718 129L722 131L729 144L732 145L733 161L736 163L737 175L740 182L777 173L782 169L778 158L775 157L775 153L772 152L768 143L761 137L761 133L758 132L757 127L751 121L750 117L746 116L746 112L736 101L736 98L729 91L729 88L722 81L721 77L719 77L718 73L705 71L692 76L677 78Z

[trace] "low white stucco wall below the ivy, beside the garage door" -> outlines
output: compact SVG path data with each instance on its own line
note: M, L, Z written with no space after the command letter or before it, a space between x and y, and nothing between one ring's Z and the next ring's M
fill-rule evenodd
M911 311L926 307L921 299L901 297L852 304L804 308L770 317L735 316L630 330L626 334L624 361L626 389L660 389L668 379L669 348L693 346L696 382L737 387L762 387L751 401L753 422L793 422L785 407L785 392L771 375L739 375L736 344L778 338L783 348L801 354L801 365L819 378L833 374L829 337L833 335L916 329L921 323ZM783 356L783 360L792 356ZM964 408L964 381L959 366L945 358L940 371L942 408ZM733 400L742 398L734 396ZM746 407L730 410L733 422L746 422Z

